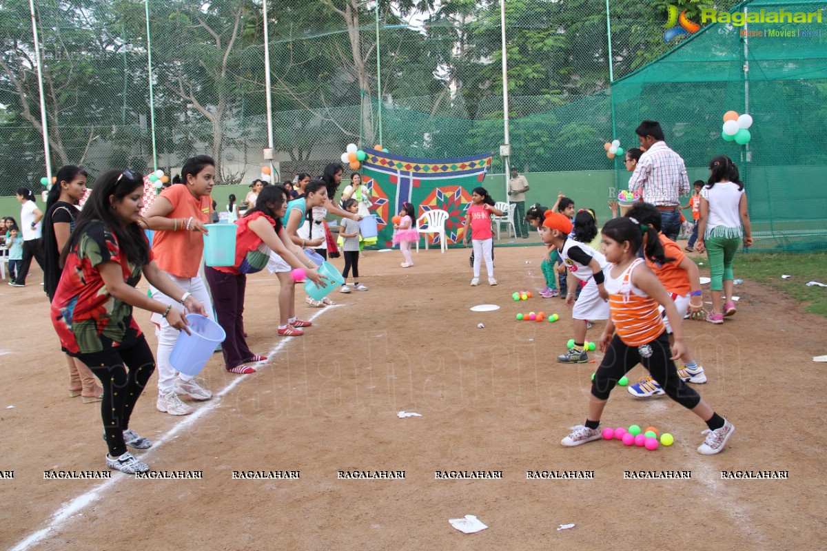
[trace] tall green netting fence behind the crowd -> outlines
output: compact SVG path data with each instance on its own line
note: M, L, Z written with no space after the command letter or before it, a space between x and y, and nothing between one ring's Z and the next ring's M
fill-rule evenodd
M445 3L427 12L387 0L378 10L356 0L268 3L280 177L319 173L349 142L431 159L499 151L500 3ZM764 21L746 26L702 21L690 0L672 4L700 30L665 41L667 2L505 2L511 165L529 178L609 172L624 188L629 174L602 145L616 138L628 149L638 122L652 118L694 173L715 154L739 164L756 249L827 249L823 2L715 4L718 13L764 12ZM157 164L170 172L207 153L218 159L220 183L258 176L268 145L261 2L35 7L53 170ZM782 11L823 22L767 22L767 13ZM29 2L0 0L0 40L5 196L40 188L45 175ZM729 110L753 116L748 145L721 138ZM491 172L503 169L495 156Z

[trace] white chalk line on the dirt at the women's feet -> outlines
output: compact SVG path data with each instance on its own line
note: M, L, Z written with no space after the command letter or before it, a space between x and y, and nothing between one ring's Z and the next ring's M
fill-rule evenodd
M324 311L327 311L331 308L336 308L338 306L342 306L341 304L336 304L332 306L325 306L324 308L320 309L318 312L310 316L309 321L315 320L318 316L321 316ZM263 367L270 363L273 359L275 359L275 354L283 349L287 344L289 344L290 339L280 340L278 344L276 344L273 349L267 353L267 359L263 362L256 363L256 368ZM231 392L233 388L237 387L241 381L249 380L249 378L239 377L234 379L230 384L226 387L223 387L220 392L213 395L213 399L208 401L201 407L198 407L192 414L189 416L184 417L180 423L177 423L172 427L169 431L167 431L164 435L161 435L159 439L154 439L152 448L146 452L146 454L141 456L141 459L151 457L152 453L155 449L160 448L165 442L169 441L177 435L181 430L189 428L190 425L194 425L201 417L206 416L208 412L213 411L218 405L221 403L216 398L221 398L227 395L228 392ZM96 501L98 497L108 490L108 488L115 486L118 482L122 482L124 480L130 480L134 477L132 475L123 475L117 476L117 473L113 473L115 476L108 479L106 482L103 482L98 487L94 487L88 492L84 492L83 494L75 497L64 506L61 506L60 509L55 511L52 515L51 520L49 521L49 525L41 530L37 530L32 534L26 536L19 544L15 545L10 549L10 551L26 551L26 549L31 548L32 545L40 543L52 530L56 530L60 528L72 515L76 515L79 511L82 511L86 506L88 506L93 501Z

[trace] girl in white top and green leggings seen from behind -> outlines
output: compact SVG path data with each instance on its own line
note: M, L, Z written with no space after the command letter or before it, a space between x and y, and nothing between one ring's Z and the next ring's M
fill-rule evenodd
M712 311L706 321L724 323L735 313L732 300L732 261L741 246L753 245L747 194L739 180L738 167L726 155L710 161L710 179L700 190L700 220L695 248L706 251L712 282ZM722 296L723 291L723 296Z

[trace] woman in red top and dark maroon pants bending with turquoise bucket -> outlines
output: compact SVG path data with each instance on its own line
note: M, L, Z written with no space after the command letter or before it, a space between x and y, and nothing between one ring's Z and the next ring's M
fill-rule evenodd
M204 268L213 301L218 313L218 324L227 333L222 343L225 368L230 373L247 375L256 368L246 362L259 362L265 356L253 354L244 338L242 314L248 273L261 272L274 251L292 268L304 268L313 283L322 283L316 266L290 242L281 226L281 217L287 211L287 199L281 186L267 186L259 192L256 207L246 211L236 222L236 261L228 267ZM291 277L292 279L292 277Z

